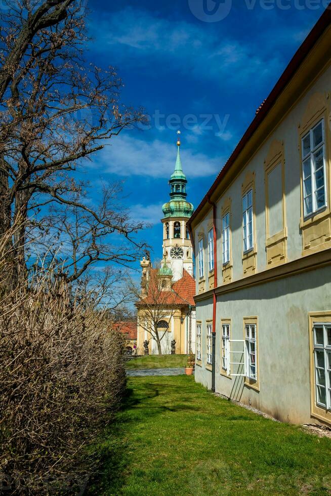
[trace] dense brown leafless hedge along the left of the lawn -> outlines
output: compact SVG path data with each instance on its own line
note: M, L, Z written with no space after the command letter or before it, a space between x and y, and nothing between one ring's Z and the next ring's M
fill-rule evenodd
M6 260L0 252L0 267ZM84 486L93 442L125 386L122 337L96 288L74 290L55 273L6 285L0 298L0 492L8 494Z

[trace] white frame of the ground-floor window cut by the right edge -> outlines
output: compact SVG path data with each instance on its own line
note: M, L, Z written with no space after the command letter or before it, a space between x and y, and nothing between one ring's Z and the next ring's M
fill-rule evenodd
M331 338L330 344L327 340L327 328L331 328L331 323L316 322L313 325L313 346L314 346L314 377L315 377L315 401L316 405L325 410L331 410ZM316 329L322 329L323 344L316 342ZM317 365L317 352L324 354L324 368ZM325 386L319 384L318 370L323 370ZM318 401L318 388L325 389L325 403Z

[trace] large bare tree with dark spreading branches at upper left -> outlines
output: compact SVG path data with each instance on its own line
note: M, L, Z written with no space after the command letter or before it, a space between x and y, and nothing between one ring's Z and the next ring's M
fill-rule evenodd
M13 223L21 225L10 240L17 279L26 274L27 231L29 238L31 233L38 238L53 205L84 217L90 236L87 257L72 260L70 277L79 277L99 260L129 261L136 257L132 247L125 248L125 254L130 252L126 258L121 250L111 251L108 240L101 249L102 240L117 234L128 246L142 224L130 221L127 211L113 209L113 186L104 188L100 204L91 207L85 201L86 185L74 173L81 160L143 121L143 111L120 103L122 82L114 68L87 67L85 11L78 0L44 0L41 5L19 0L15 9L5 1L11 8L1 14L0 235ZM74 242L82 244L80 234Z

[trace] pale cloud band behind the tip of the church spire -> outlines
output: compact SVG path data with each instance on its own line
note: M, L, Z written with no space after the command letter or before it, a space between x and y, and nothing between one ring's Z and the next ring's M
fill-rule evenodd
M102 169L103 173L118 176L170 178L175 168L176 155L176 145L120 135L111 146L101 150L92 163ZM222 157L209 158L203 153L193 153L185 148L181 150L181 161L188 179L215 176L222 165Z

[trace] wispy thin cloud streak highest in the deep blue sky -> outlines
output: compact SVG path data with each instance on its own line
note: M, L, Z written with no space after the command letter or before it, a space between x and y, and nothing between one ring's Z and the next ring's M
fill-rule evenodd
M257 73L261 79L270 69L279 68L279 61L270 57L270 47L260 46L261 56L257 56L256 47L226 35L220 37L218 31L206 30L204 25L153 17L132 7L116 12L107 21L100 19L90 29L96 39L93 50L104 52L105 46L113 50L117 45L117 55L140 65L143 57L162 56L165 69L171 64L199 78L226 75L227 80L242 86L244 79ZM145 67L152 68L153 64Z

